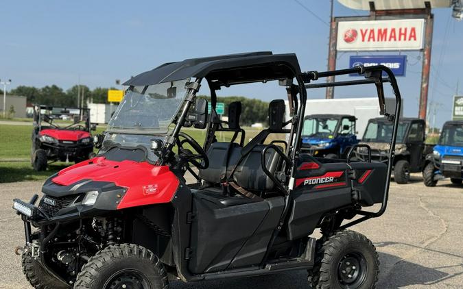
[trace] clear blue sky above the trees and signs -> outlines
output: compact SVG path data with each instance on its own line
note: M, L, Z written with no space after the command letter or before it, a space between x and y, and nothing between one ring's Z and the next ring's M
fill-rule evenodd
M329 21L328 0L299 1ZM335 2L335 16L359 14L366 12ZM434 14L429 98L441 104L440 126L450 118L459 79L463 93L463 22L449 20L449 9ZM91 88L115 86L115 79L126 80L164 62L244 51L294 52L302 70L327 68L328 26L294 0L5 1L0 27L0 79L12 79L10 88L56 84L67 89L79 77ZM405 115L416 116L420 53L406 54L407 76L399 78L399 86ZM338 54L337 68L348 66L348 55ZM348 88L337 89L335 97L374 94L372 88ZM285 91L251 85L219 95L270 100L285 98ZM309 97L322 98L324 90L313 90Z

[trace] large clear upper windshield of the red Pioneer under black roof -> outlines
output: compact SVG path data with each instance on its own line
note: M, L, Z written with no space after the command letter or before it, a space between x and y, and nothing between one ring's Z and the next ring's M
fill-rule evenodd
M167 134L185 99L187 82L189 79L131 87L110 119L107 131Z

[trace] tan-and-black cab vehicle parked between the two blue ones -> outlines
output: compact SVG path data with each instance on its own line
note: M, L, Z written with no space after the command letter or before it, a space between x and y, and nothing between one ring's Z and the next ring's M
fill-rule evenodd
M420 118L401 118L399 121L393 164L397 184L407 184L410 173L421 172L425 167L425 156L432 148L425 145L425 126L425 121ZM392 128L393 123L387 118L372 118L368 121L360 143L371 148L373 161L388 162ZM367 160L366 149L359 149L355 158Z

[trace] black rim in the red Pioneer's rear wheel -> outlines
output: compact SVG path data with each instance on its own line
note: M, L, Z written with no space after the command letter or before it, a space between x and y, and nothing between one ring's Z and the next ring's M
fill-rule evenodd
M366 279L366 259L361 253L348 253L337 265L337 277L342 288L359 288Z

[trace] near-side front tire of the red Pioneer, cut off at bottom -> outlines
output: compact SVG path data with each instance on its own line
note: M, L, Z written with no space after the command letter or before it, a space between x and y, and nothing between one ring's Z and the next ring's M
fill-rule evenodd
M82 267L75 289L167 289L169 281L161 260L136 244L110 245Z

